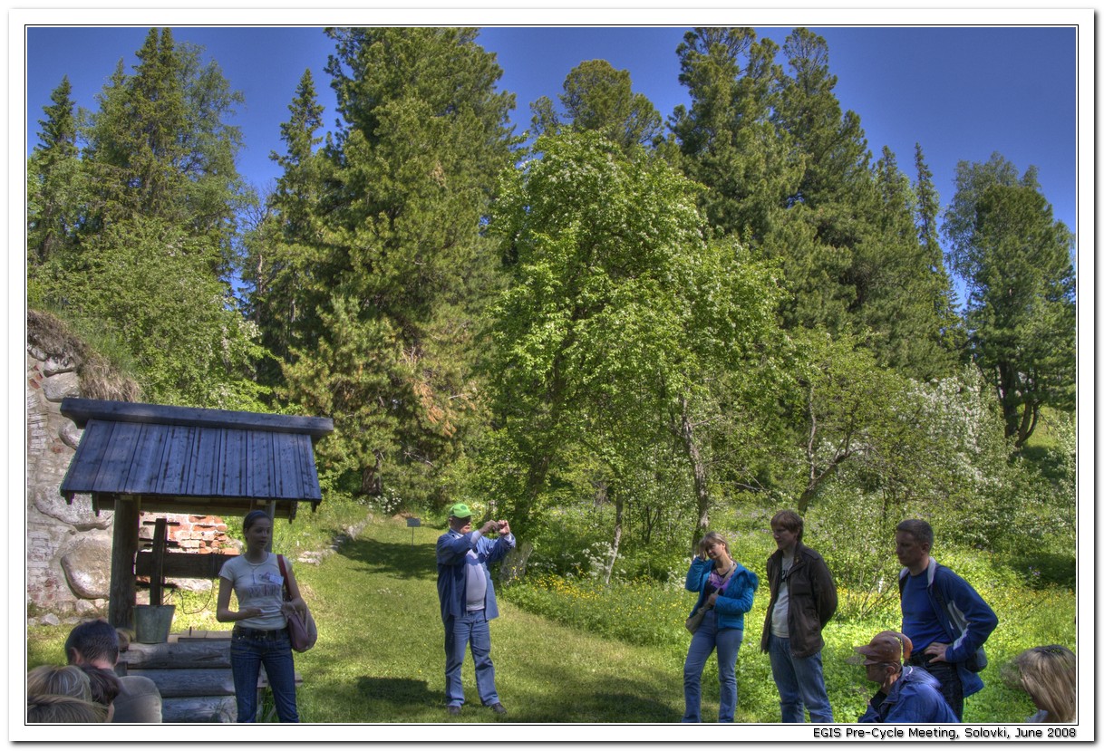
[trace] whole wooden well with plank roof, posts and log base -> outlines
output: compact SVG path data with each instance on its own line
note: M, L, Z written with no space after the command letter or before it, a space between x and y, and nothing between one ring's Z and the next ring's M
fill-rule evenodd
M61 411L84 430L62 496L89 494L96 515L115 513L107 618L117 627L135 627L139 576L150 578L150 602L160 604L164 578L214 580L232 557L168 551L163 517L153 548L139 550L140 513L241 517L261 508L290 522L300 503L311 511L321 503L314 447L333 431L329 418L75 398ZM158 685L166 722L236 715L229 631L131 643L116 670ZM258 689L266 685L262 672Z

